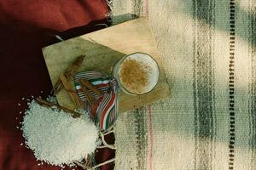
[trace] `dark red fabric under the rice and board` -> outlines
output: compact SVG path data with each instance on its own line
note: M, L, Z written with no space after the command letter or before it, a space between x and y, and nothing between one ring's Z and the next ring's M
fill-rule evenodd
M53 35L67 39L102 29L96 24L109 24L107 13L104 0L0 1L0 170L61 169L39 167L32 151L20 146L24 139L16 127L22 121L19 112L26 109L21 99L49 94L52 86L41 48L57 42ZM111 156L113 151L100 151L96 160Z

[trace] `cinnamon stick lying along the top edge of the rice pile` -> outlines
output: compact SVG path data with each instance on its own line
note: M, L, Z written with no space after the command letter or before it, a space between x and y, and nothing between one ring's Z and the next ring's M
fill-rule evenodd
M66 107L61 106L61 105L55 105L55 104L50 103L49 101L44 100L44 99L37 98L36 101L38 102L39 105L42 105L42 106L50 108L50 109L55 106L59 110L66 111L67 113L69 113L74 118L77 118L77 117L81 116L81 114L79 112L72 111L70 109L67 109Z

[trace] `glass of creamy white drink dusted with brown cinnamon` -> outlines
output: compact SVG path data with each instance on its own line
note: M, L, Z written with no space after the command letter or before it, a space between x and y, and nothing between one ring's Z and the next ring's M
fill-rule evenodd
M148 54L136 53L125 56L115 66L115 76L126 94L146 94L158 82L160 71Z

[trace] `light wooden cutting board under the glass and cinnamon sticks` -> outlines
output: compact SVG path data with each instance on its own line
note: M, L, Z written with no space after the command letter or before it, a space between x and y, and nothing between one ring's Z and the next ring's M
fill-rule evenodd
M66 71L68 65L81 54L85 54L86 57L80 71L101 71L110 75L113 65L119 59L125 54L135 52L150 54L158 62L160 79L154 90L148 94L132 96L121 93L120 112L151 104L170 94L165 73L160 63L160 55L146 18L127 21L117 26L111 26L43 48L45 63L53 85L60 74ZM74 87L73 80L70 83ZM56 97L60 105L70 109L75 108L65 90L61 90Z

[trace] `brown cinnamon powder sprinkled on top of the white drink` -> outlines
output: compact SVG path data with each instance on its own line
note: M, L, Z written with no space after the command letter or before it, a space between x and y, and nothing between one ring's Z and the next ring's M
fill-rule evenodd
M136 59L125 59L121 65L119 78L122 85L131 93L142 94L149 83L150 67Z

